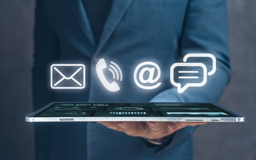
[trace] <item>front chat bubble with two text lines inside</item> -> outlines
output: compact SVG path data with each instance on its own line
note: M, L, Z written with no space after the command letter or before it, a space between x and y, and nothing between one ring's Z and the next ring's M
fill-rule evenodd
M203 69L203 80L199 83L186 83L183 87L181 87L181 83L175 82L174 80L174 69L178 66L199 66ZM199 73L199 71L178 71L178 73ZM198 79L198 76L179 76L179 79ZM201 87L207 82L207 68L203 63L174 63L170 68L170 81L172 85L176 86L178 92L183 93L188 87ZM183 83L183 82L182 82Z

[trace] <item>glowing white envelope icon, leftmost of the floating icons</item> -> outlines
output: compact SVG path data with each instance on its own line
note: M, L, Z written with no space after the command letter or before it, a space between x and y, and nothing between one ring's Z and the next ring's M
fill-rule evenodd
M83 64L52 64L51 88L83 89L85 87L85 66Z

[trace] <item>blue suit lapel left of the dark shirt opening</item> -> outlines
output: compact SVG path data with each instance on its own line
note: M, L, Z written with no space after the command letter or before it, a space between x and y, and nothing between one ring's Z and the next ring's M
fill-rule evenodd
M76 17L77 22L79 23L81 29L91 42L91 44L96 47L95 39L93 35L92 28L90 26L88 17L86 15L85 9L83 7L81 0L69 0L69 4L71 6L72 12Z

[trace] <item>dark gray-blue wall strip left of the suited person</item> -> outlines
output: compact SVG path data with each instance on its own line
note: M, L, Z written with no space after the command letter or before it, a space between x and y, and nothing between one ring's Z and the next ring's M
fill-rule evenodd
M0 159L34 159L31 67L33 0L0 0Z

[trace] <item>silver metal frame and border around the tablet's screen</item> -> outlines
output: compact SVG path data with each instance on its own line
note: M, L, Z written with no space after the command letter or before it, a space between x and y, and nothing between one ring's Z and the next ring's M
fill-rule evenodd
M217 103L209 103L215 105L236 117L34 117L36 114L50 107L54 103L93 103L93 102L52 102L45 107L26 116L27 122L95 122L95 121L162 121L162 122L245 122L245 116L242 116L236 112L233 112ZM103 103L103 102L99 102ZM110 102L106 102L110 103ZM122 102L121 102L122 103ZM140 102L144 103L144 102ZM154 102L152 102L154 103ZM168 102L166 102L168 103ZM174 102L169 102L174 103ZM182 103L182 102L176 102ZM192 102L187 102L192 103ZM194 102L196 103L196 102ZM151 103L150 103L151 104ZM164 103L158 103L164 104ZM199 103L201 104L201 102Z

